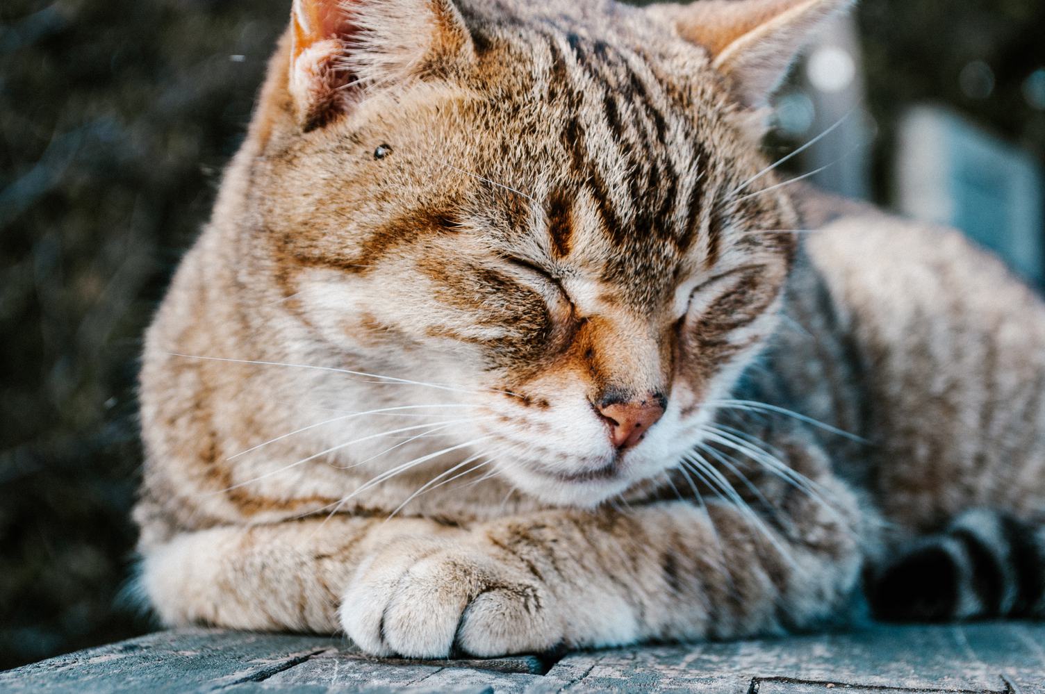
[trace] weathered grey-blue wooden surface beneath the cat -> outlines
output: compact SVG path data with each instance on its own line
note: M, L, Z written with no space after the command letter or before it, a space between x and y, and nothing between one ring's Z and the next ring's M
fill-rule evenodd
M1045 624L876 626L492 661L390 661L340 639L162 631L0 673L0 692L1045 694Z

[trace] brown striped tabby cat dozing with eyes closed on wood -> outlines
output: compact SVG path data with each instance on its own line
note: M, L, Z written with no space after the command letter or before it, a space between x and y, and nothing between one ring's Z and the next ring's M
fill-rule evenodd
M1045 616L1045 305L760 149L846 4L295 0L146 336L162 621L444 657L861 586Z

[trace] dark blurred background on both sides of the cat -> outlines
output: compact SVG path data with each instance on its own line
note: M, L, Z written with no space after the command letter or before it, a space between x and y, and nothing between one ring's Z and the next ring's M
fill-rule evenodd
M0 2L0 669L152 628L119 598L141 334L289 0ZM864 0L795 70L793 175L1045 274L1045 0Z

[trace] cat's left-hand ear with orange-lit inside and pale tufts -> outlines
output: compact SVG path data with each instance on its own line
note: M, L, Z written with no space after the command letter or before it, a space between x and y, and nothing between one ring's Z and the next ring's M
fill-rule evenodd
M291 42L288 88L305 130L376 86L451 71L472 54L452 0L294 0Z

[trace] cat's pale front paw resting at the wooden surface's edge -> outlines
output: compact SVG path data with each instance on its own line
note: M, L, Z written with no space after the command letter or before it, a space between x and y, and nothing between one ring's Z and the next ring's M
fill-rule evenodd
M538 652L562 629L533 575L460 540L401 539L367 558L341 606L346 633L375 655Z

